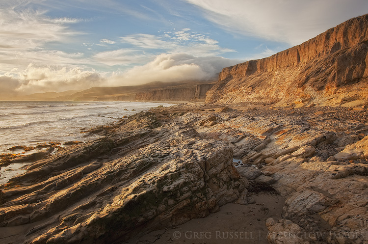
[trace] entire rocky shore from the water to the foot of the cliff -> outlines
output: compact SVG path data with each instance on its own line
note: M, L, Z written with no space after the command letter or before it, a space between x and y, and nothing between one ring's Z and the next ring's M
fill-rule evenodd
M99 133L3 186L1 243L215 244L229 243L214 238L229 229L262 229L263 242L253 243L368 242L367 108L193 103L140 112ZM270 211L275 198L282 206ZM221 214L228 203L237 215L263 204L268 212L251 226ZM184 235L186 222L214 215L223 226L202 226L212 238Z

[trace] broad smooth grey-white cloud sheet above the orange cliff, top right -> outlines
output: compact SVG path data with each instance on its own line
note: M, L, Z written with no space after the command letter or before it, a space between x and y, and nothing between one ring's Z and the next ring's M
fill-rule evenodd
M225 30L297 45L368 12L367 0L186 0Z

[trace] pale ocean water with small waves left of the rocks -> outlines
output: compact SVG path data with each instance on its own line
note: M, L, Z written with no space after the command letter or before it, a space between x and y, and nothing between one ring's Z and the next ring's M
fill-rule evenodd
M0 154L11 153L7 149L16 145L91 140L97 136L80 132L159 105L171 106L148 102L0 102Z

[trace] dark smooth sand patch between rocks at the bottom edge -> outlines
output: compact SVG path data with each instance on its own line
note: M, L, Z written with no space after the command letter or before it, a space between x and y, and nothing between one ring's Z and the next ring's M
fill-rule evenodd
M268 244L268 217L281 218L284 198L277 194L253 194L254 204L228 203L217 213L192 219L175 229L132 238L128 244Z

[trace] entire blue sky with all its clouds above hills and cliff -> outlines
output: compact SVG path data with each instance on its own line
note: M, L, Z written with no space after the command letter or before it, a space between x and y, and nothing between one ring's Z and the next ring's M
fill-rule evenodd
M367 0L0 0L0 100L216 79L366 13Z

